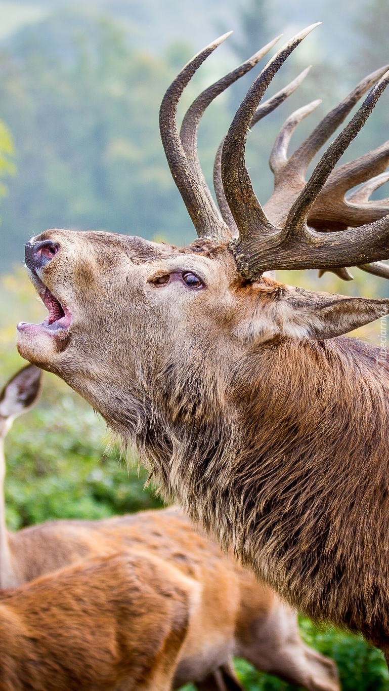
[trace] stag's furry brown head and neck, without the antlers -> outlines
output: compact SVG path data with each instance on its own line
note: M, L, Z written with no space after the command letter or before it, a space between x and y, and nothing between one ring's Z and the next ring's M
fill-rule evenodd
M389 301L245 284L225 247L42 239L59 251L32 279L73 322L63 352L39 329L21 330L19 352L135 442L166 495L294 607L389 650L388 365L322 340ZM185 271L202 289L153 283Z

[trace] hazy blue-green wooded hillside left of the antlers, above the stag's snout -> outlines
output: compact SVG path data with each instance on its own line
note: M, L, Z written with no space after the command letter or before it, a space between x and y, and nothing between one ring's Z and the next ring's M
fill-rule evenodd
M172 53L173 66L169 53L132 50L113 21L71 13L3 50L0 115L12 123L19 169L3 210L3 267L47 227L193 236L158 131Z

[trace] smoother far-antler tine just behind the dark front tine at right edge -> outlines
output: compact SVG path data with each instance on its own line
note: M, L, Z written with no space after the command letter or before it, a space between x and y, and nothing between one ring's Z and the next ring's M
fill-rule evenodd
M361 82L339 103L332 111L323 117L323 120L315 127L307 139L298 146L290 157L290 166L298 167L300 174L305 176L307 167L309 166L314 155L321 149L323 144L328 141L332 134L336 131L339 125L345 120L348 113L352 111L359 99L368 91L374 84L377 83L383 75L388 72L389 65L374 70L370 75L361 79Z

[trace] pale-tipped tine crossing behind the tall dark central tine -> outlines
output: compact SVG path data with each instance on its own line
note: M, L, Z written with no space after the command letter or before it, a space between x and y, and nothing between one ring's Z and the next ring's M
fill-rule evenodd
M263 119L266 115L269 115L269 113L272 113L278 106L281 106L281 104L287 99L288 96L292 95L294 91L296 91L296 88L300 86L300 84L303 82L307 74L309 73L311 67L305 68L295 79L293 79L290 84L287 84L281 91L278 91L277 93L274 94L271 98L267 99L264 103L260 104L258 108L256 109L253 117L252 117L252 122L250 124L250 128L254 126L257 122ZM223 189L223 184L222 184L222 174L221 174L221 158L222 158L222 147L225 142L225 138L222 139L222 142L220 142L220 146L218 148L218 151L216 152L215 156L215 161L214 161L214 189L216 192L216 199L218 200L218 205L219 209L221 211L222 217L225 220L225 223L227 223L229 229L231 230L231 233L234 237L238 237L238 227L236 226L234 216L232 216L231 211L229 209L229 205L227 204L227 199L225 198L225 191Z

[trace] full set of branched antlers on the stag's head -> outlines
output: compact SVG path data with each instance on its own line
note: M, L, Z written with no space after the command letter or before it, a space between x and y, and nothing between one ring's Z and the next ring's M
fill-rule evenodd
M362 93L382 75L383 70L377 70L377 73L366 77L324 118L290 160L287 160L286 155L290 136L296 124L316 107L317 102L301 108L288 118L272 152L271 166L276 184L274 194L265 209L260 207L252 189L245 167L247 131L249 126L254 124L254 113L272 78L292 50L315 26L317 25L312 25L296 35L265 66L238 109L222 147L222 184L227 205L223 208L220 203L220 206L231 229L234 229L235 224L238 228L239 237L230 241L229 249L236 258L238 270L249 280L258 278L269 269L339 269L341 273L345 272L345 266L362 264L366 265L367 270L372 271L374 266L370 266L371 262L389 258L389 216L386 216L388 204L385 201L378 204L368 202L372 185L374 187L370 178L372 173L386 167L389 146L384 144L370 154L334 171L336 162L366 122L386 88L389 72L381 76L357 114L332 142L308 182L305 182L305 171L316 151L343 122ZM198 235L219 243L228 240L231 234L227 223L218 213L200 170L196 149L198 122L209 102L232 81L248 71L255 64L256 56L198 97L184 117L181 138L175 122L175 113L184 86L188 84L200 64L226 37L227 35L207 46L184 67L167 91L160 115L161 136L169 166ZM270 45L265 46L265 49ZM259 54L263 55L265 49ZM280 94L276 96L279 97ZM274 99L276 102L276 97ZM272 107L276 106L272 106L270 99L258 108L258 117L261 108L264 114L269 112L266 108ZM345 198L347 189L364 181L368 181L367 187L364 186L364 192L359 190L359 198L355 193ZM380 183L376 186L378 184ZM219 197L218 189L217 192ZM365 198L361 197L363 194ZM328 195L332 200L331 205L328 204ZM225 202L221 195L220 200ZM280 204L282 200L285 203ZM330 214L332 220L329 218ZM367 225L349 227L352 224L366 223L366 218ZM335 222L337 229L334 231ZM323 233L323 229L331 232ZM379 270L385 271L382 268Z

